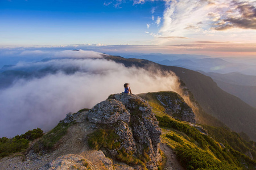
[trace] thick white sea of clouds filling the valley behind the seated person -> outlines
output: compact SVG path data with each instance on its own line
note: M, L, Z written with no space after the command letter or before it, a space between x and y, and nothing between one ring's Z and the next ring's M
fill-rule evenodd
M0 137L14 137L27 130L51 130L69 112L92 108L110 94L121 93L130 83L133 94L170 90L179 92L178 78L137 67L125 67L104 59L102 53L80 50L59 52L26 51L19 55L54 58L19 62L10 69L40 76L16 79L0 90ZM50 71L49 71L50 70ZM54 71L51 71L54 70Z

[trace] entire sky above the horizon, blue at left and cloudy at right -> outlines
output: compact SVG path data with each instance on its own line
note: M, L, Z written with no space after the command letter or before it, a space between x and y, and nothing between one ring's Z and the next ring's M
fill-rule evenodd
M0 23L1 48L97 44L256 56L254 0L0 0Z

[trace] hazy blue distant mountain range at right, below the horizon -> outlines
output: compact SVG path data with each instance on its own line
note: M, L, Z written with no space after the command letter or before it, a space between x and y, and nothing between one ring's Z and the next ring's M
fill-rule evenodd
M203 55L191 54L139 54L125 55L125 58L148 59L161 65L183 67L190 70L201 70L205 73L232 73L240 72L246 75L256 75L256 62L254 59L229 59L229 58L212 58ZM248 62L251 61L251 62Z

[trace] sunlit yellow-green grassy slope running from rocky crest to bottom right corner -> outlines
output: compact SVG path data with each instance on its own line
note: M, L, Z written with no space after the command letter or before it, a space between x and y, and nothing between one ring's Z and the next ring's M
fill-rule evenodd
M159 93L162 94L163 92ZM170 92L170 96L172 93ZM151 105L158 118L159 125L163 129L162 142L176 150L176 155L181 163L185 165L185 168L245 169L245 166L247 166L249 169L253 169L256 165L254 160L242 154L241 151L241 148L245 150L246 147L246 149L253 152L255 148L251 147L250 143L243 141L237 133L232 133L226 128L216 128L218 131L225 131L223 135L218 134L218 137L225 139L226 136L234 134L232 136L234 141L240 141L240 145L236 145L236 149L241 152L234 150L234 145L233 147L229 145L229 143L233 143L230 139L226 139L229 142L223 142L226 148L222 148L217 141L201 134L197 129L189 126L187 122L175 120L168 116L164 112L163 106L152 96L152 93L140 94L139 96L148 100L148 104ZM211 131L211 134L214 133ZM213 137L215 139L216 135L213 135Z

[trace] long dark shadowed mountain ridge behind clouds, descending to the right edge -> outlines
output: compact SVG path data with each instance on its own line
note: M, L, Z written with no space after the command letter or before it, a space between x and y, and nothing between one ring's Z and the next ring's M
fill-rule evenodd
M209 76L181 67L158 65L146 59L126 59L118 56L108 58L123 63L126 67L137 66L147 69L155 66L161 70L173 71L186 84L205 112L221 120L232 130L245 132L256 141L256 109L221 90Z

